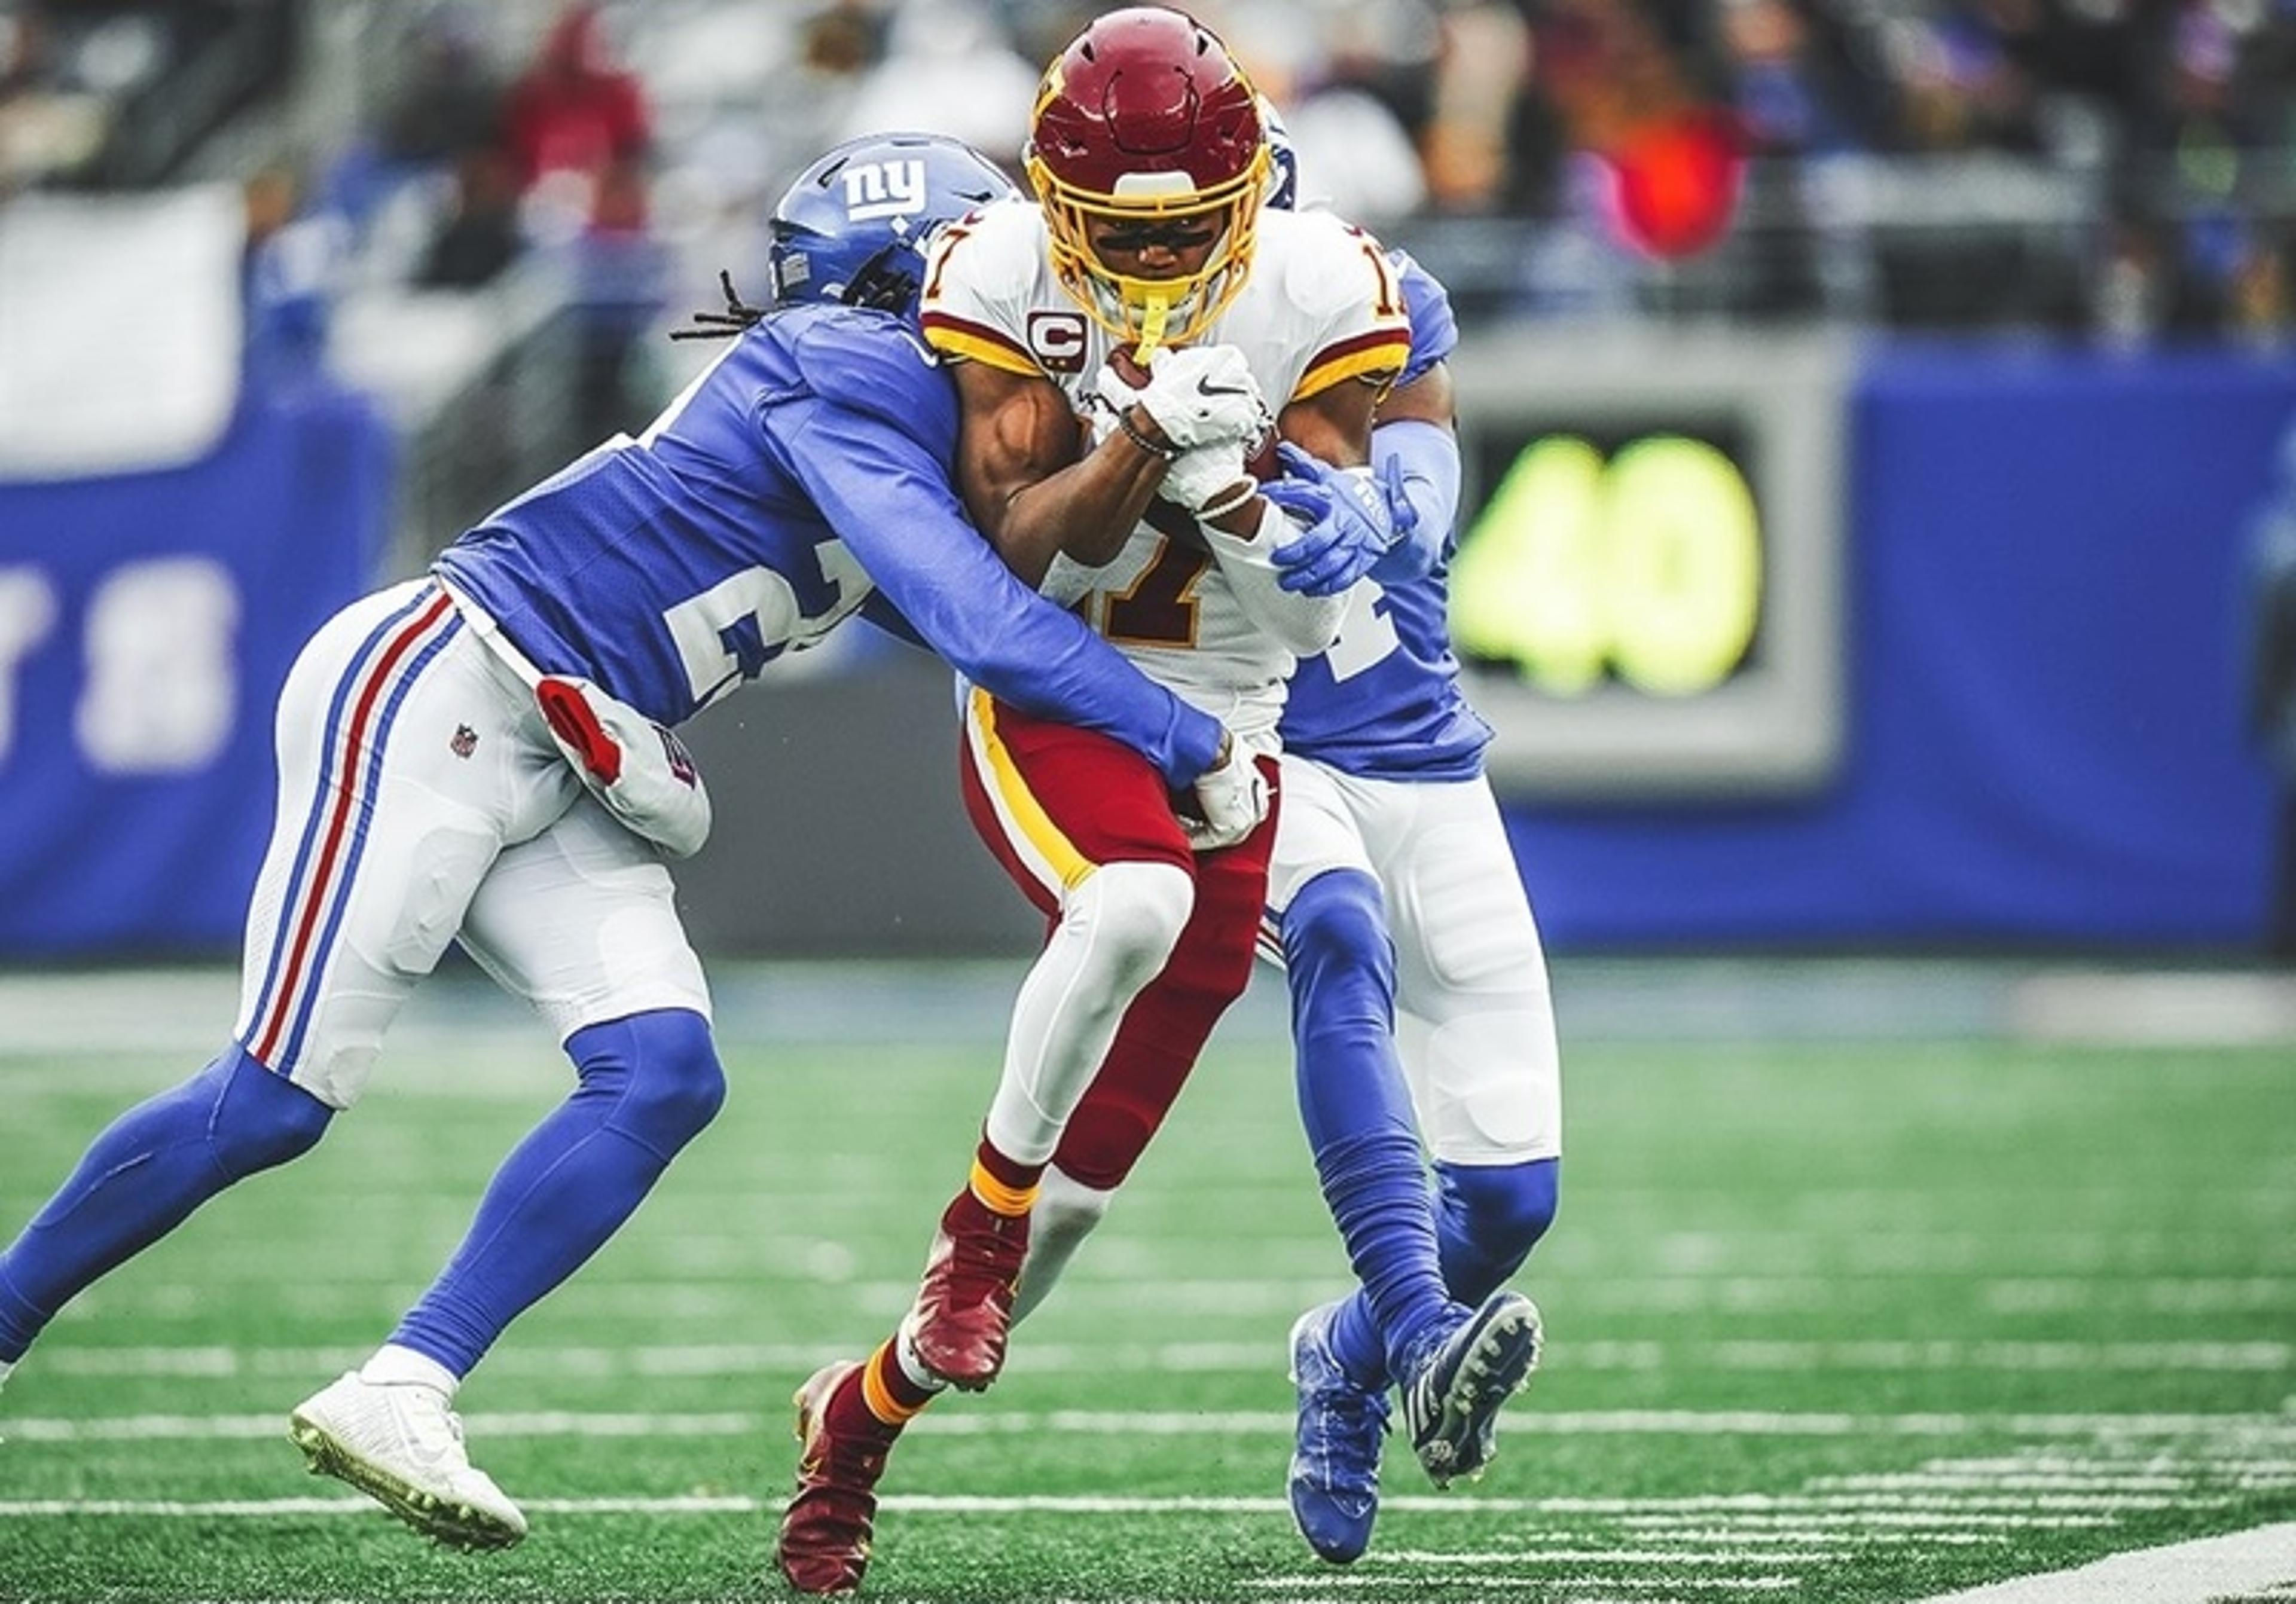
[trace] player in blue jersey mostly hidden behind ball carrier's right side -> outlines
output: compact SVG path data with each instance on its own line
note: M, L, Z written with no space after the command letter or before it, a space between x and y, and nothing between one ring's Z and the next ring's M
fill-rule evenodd
M1293 204L1281 138L1277 156L1270 204ZM1274 553L1309 592L1364 581L1339 643L1293 677L1263 932L1290 984L1300 1118L1362 1283L1290 1336L1290 1505L1334 1563L1371 1542L1396 1333L1522 1267L1554 1218L1561 1161L1545 955L1483 778L1490 727L1444 622L1458 328L1442 285L1394 255L1412 356L1373 431L1391 516L1350 521L1352 496L1334 496L1336 519ZM1355 477L1355 493L1371 480L1297 454L1286 470ZM1451 1475L1481 1473L1492 1450L1486 1430Z

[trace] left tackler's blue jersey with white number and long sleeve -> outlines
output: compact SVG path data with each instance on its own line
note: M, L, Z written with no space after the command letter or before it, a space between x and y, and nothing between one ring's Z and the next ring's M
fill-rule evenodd
M872 590L967 679L1173 785L1219 723L1022 585L951 489L957 397L909 324L806 305L739 335L631 441L487 514L436 571L551 675L677 725Z

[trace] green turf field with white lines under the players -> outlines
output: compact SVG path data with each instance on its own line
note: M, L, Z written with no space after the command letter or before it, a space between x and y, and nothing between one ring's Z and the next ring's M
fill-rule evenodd
M0 1599L778 1597L788 1395L905 1306L1008 982L914 1033L872 989L847 1044L836 1007L778 1037L726 1010L719 1124L464 1388L473 1457L533 1517L503 1556L429 1549L285 1439L556 1097L546 1044L491 1012L395 1044L319 1152L99 1285L9 1381ZM1564 1216L1522 1278L1550 1356L1488 1478L1435 1494L1391 1446L1371 1556L1322 1567L1290 1528L1283 1336L1345 1269L1263 1007L1006 1379L909 1432L868 1595L1896 1602L2296 1519L2285 1042L1603 1033L1568 971L1559 994ZM0 1235L197 1067L9 1040Z

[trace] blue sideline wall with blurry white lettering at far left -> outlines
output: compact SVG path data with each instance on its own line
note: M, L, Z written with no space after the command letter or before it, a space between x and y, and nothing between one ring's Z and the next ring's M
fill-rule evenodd
M374 581L390 457L363 397L250 386L184 468L0 482L0 959L236 952L271 709Z

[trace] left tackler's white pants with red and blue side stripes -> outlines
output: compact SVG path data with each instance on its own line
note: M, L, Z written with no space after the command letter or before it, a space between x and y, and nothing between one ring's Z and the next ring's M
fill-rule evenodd
M661 854L583 789L533 693L432 581L354 601L280 693L278 815L248 909L239 1042L335 1108L461 939L558 1040L707 1019Z

